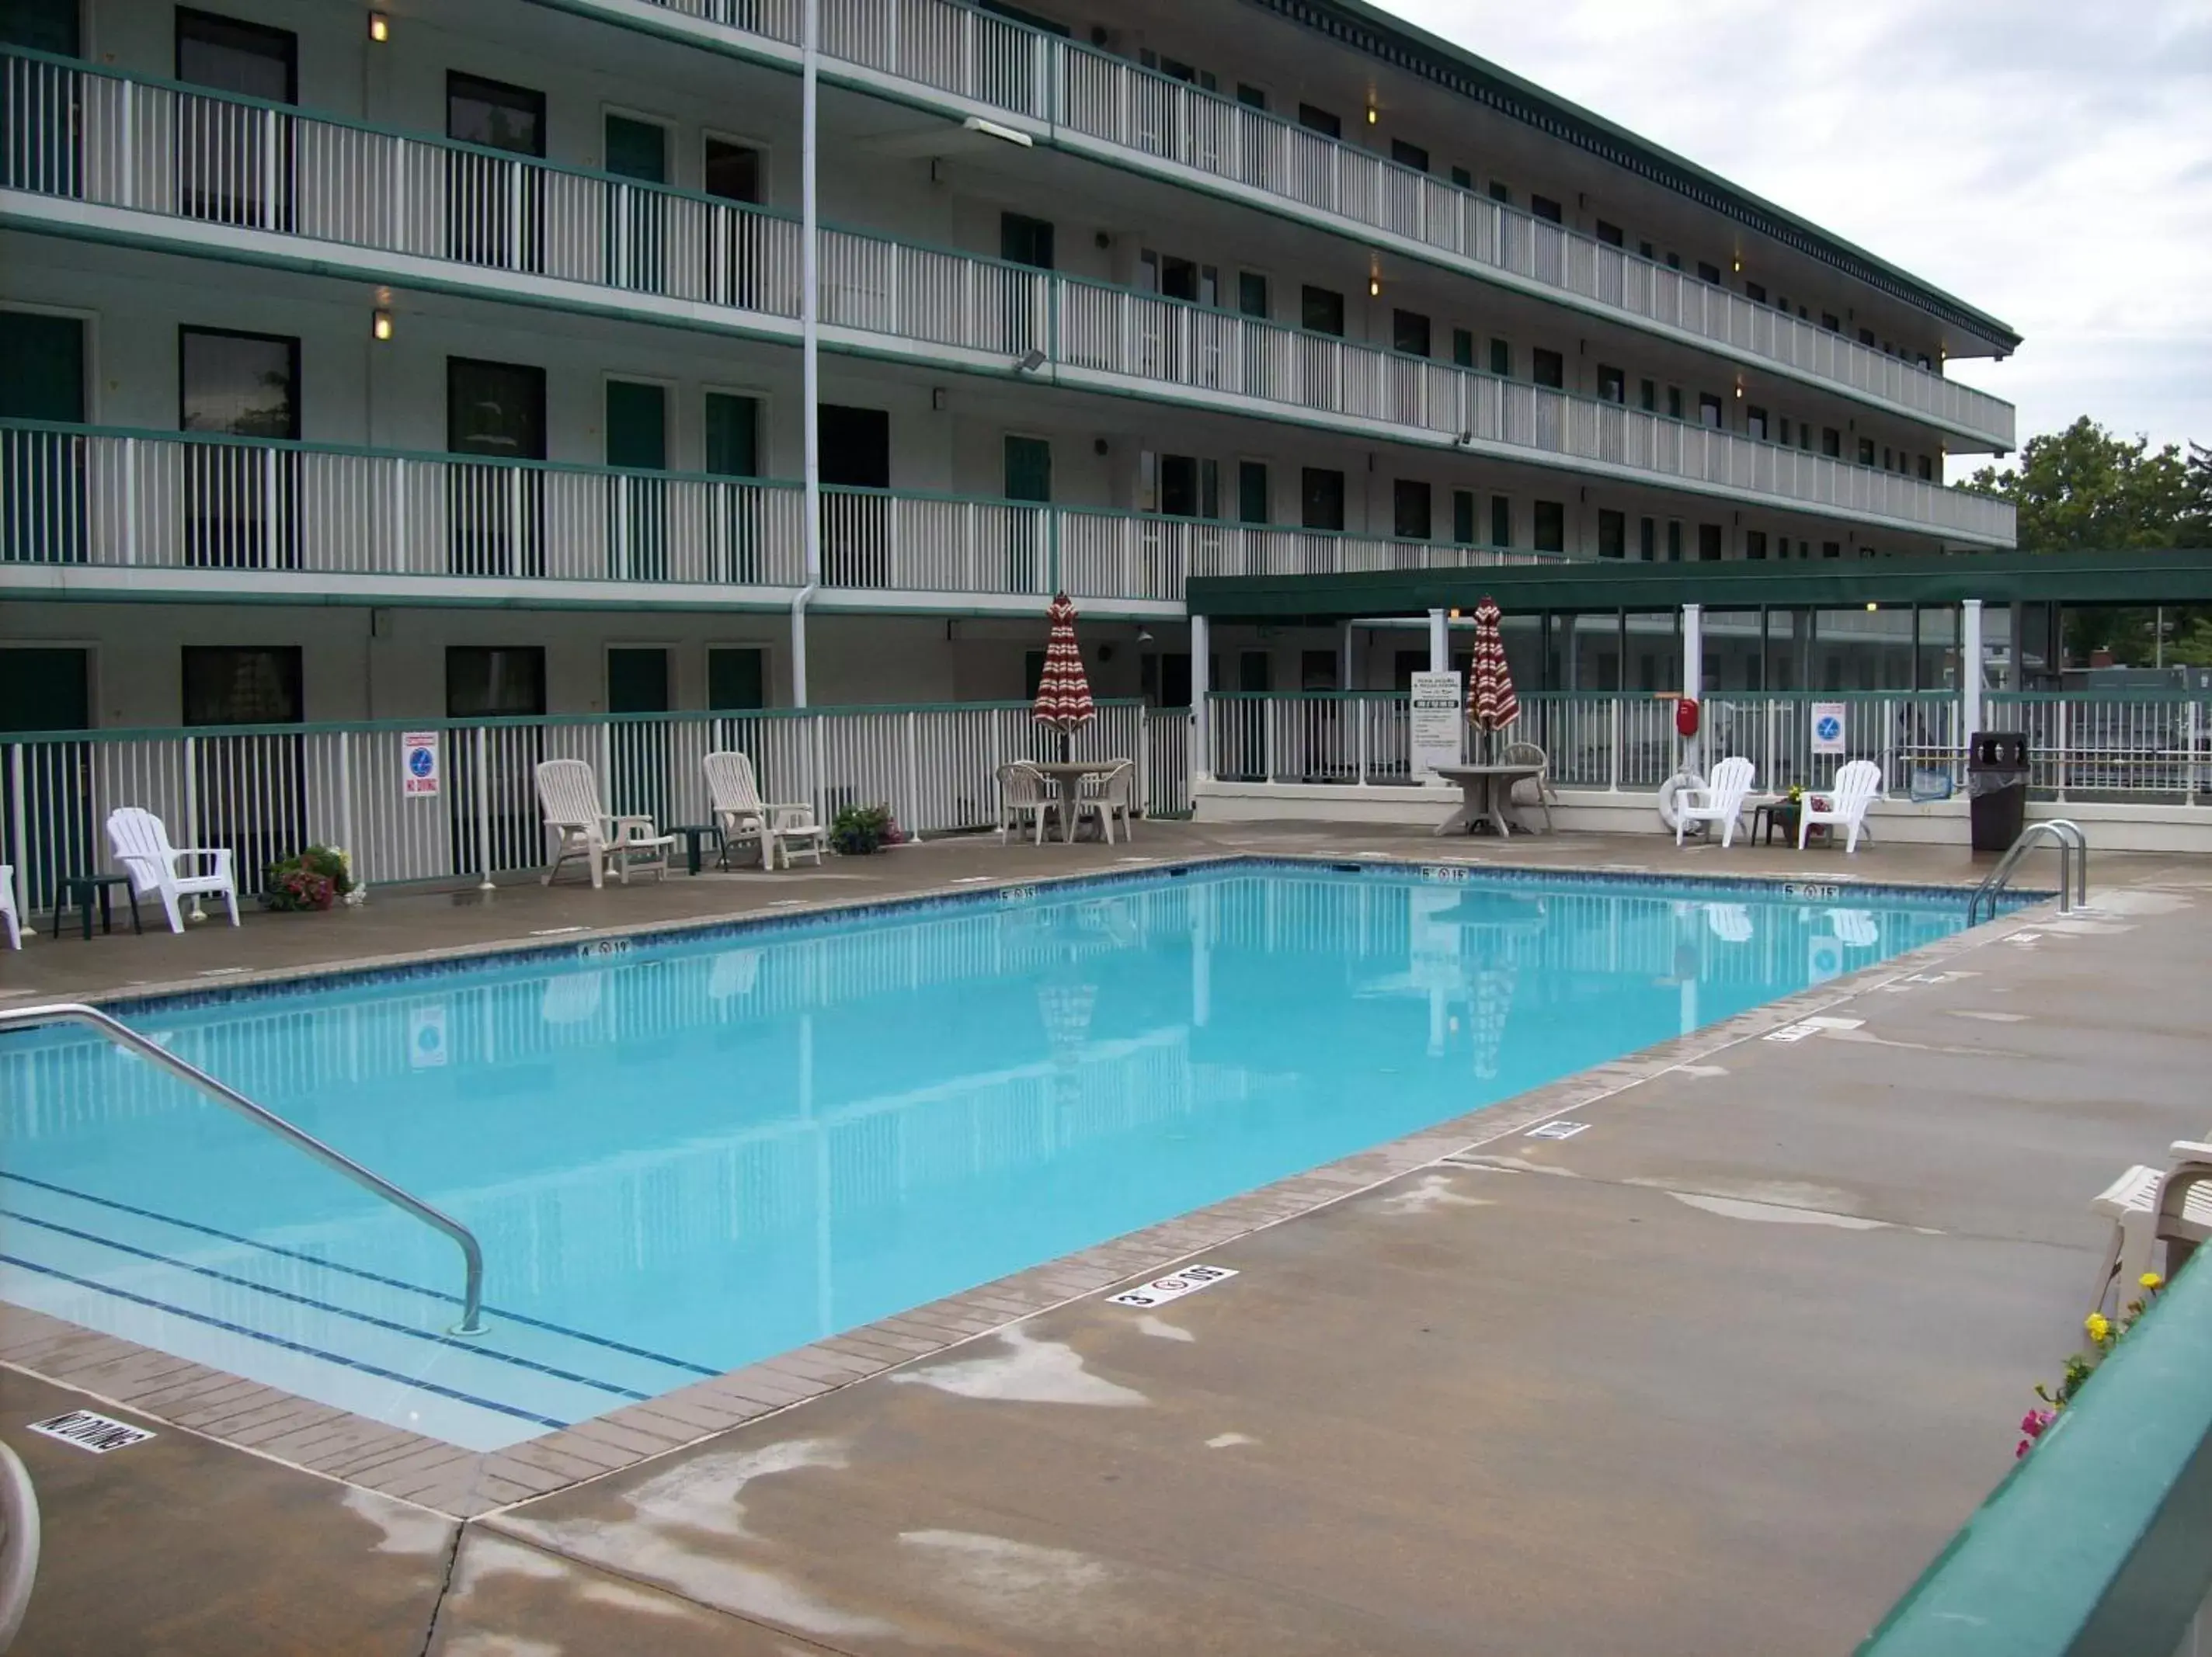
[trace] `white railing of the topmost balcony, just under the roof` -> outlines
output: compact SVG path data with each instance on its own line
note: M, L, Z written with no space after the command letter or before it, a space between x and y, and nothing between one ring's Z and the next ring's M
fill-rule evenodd
M799 0L650 4L779 46L801 40ZM1363 241L1383 232L1475 274L1566 294L1624 323L1690 334L2000 451L2013 447L2013 407L1971 385L1281 115L958 0L825 0L823 55L832 73L854 66L984 104L1093 139L1166 177L1279 201Z

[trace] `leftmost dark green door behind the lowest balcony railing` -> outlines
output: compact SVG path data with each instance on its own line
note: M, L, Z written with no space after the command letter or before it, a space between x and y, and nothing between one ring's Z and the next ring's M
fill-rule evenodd
M84 423L84 323L0 310L0 416ZM11 564L84 562L84 438L0 431L0 557ZM4 717L4 715L0 715Z

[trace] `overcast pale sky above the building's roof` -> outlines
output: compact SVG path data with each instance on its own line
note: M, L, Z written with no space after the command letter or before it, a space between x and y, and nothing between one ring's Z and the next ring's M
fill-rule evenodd
M1383 0L2026 338L2020 436L2212 445L2212 0Z

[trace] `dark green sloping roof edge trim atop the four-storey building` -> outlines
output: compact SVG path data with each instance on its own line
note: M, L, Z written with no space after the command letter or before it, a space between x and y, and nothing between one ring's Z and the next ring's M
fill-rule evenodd
M1588 150L1637 177L1661 184L1763 237L1772 237L1785 248L1796 248L1812 259L1834 265L1891 299L1902 299L1947 323L1980 334L2002 352L2020 350L2020 334L1989 312L1975 310L1966 301L1920 281L1887 259L1878 259L1865 248L1829 235L1809 219L1801 219L1787 208L1778 208L1730 184L1721 175L1708 173L1697 161L1637 137L1626 126L1615 126L1606 117L1593 115L1579 104L1571 104L1557 93L1548 93L1535 82L1522 80L1442 35L1431 35L1427 29L1418 29L1380 7L1367 4L1367 0L1252 0L1252 4L1265 7L1307 29L1318 29L1332 40L1340 40L1411 75L1447 86L1517 122L1526 122L1540 133Z

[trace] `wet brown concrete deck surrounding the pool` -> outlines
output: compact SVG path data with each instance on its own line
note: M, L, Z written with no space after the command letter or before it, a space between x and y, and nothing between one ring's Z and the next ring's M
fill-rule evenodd
M1146 825L1135 847L947 843L841 880L378 894L237 934L71 936L0 960L0 987L206 989L204 965L1358 850L1971 874L1922 847ZM378 1496L195 1431L128 1361L82 1369L88 1341L0 1343L0 1436L49 1524L18 1650L1849 1650L2011 1465L2086 1310L2088 1199L2208 1126L2212 863L2099 856L2095 876L2095 914L2013 918L1234 1199L1225 1241L1170 1221L1042 1268L1064 1303L995 1330L1029 1305L969 1296L978 1330L940 1330L962 1345L748 1425L701 1416L677 1449L544 1493ZM1812 1009L1863 1022L1763 1040ZM1526 1137L1559 1111L1588 1126ZM1099 1272L1192 1248L1239 1274L1155 1312L1099 1299ZM133 1387L144 1409L93 1407L153 1425L146 1445L22 1431Z

